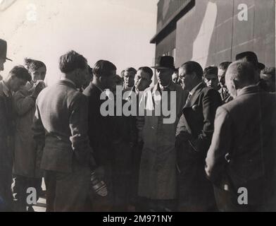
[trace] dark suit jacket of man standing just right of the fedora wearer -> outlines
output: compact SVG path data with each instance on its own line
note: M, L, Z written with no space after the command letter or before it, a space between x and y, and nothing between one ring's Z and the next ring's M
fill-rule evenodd
M199 157L204 157L202 160L211 144L215 111L221 104L218 91L199 83L182 109L183 114L177 126L177 143L185 142L189 147L186 151L198 153Z

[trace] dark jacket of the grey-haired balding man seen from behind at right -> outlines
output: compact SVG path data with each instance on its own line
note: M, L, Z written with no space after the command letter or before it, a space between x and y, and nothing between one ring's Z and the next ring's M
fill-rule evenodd
M242 89L231 102L218 108L215 131L206 158L206 173L214 184L226 180L237 195L246 187L249 203L256 204L275 192L276 97L258 85Z

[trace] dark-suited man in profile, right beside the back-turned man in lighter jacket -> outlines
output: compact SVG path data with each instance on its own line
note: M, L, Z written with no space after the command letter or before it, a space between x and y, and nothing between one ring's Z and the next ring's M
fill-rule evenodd
M108 188L107 196L95 194L93 210L108 211L113 208L113 118L103 116L101 105L106 102L106 99L101 100L101 94L106 89L113 90L115 87L116 67L109 61L97 61L93 67L93 75L92 83L83 92L89 100L88 134L96 163L99 165L96 174Z

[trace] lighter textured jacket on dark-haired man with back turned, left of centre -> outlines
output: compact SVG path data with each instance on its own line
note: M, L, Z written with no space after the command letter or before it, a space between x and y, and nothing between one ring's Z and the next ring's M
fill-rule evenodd
M94 165L87 136L87 97L68 81L39 93L34 137L44 145L42 169L72 172L74 164Z

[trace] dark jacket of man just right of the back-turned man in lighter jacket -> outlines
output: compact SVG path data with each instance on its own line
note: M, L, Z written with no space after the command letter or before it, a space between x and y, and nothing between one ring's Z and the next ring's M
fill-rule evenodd
M111 165L113 161L113 129L114 117L103 117L101 105L106 100L101 100L102 91L93 83L84 90L88 97L88 135L90 145L94 150L97 165Z

